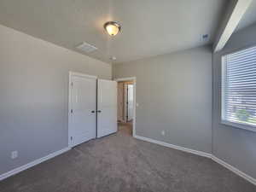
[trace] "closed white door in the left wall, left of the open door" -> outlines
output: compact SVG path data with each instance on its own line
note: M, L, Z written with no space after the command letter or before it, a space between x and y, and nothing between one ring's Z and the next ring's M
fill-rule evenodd
M96 77L71 75L69 146L96 138Z

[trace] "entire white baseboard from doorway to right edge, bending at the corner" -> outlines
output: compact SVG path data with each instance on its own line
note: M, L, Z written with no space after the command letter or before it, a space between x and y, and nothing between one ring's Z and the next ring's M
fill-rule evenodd
M159 144L161 146L165 146L167 148L174 148L177 150L181 150L190 154L196 154L196 155L200 155L202 157L207 157L209 159L212 159L213 161L215 161L216 163L218 163L221 166L224 166L225 168L229 169L231 172L236 173L236 175L243 177L244 179L246 179L248 182L253 183L254 185L256 185L256 179L247 175L245 172L241 172L239 169L237 169L235 166L231 166L230 164L226 163L224 160L220 160L218 159L218 157L214 156L213 154L208 154L206 152L202 152L202 151L197 151L191 148L183 148L177 145L173 145L170 143L165 143L165 142L160 142L158 140L154 140L148 137L141 137L141 136L134 136L137 139L143 140L145 142L149 142L149 143L155 143L155 144Z

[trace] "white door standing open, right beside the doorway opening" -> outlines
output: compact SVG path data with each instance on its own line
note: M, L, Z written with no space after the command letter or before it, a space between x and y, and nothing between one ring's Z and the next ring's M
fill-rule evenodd
M97 137L117 131L117 82L98 79Z

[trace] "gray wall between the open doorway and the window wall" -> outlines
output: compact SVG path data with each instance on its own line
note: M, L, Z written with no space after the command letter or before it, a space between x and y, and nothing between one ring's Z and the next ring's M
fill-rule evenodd
M113 66L114 78L133 76L137 77L138 136L212 153L210 47Z

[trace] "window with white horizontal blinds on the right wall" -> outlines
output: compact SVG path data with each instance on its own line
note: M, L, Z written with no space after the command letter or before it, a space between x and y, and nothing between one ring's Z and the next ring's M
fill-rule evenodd
M256 131L256 46L222 57L221 118Z

